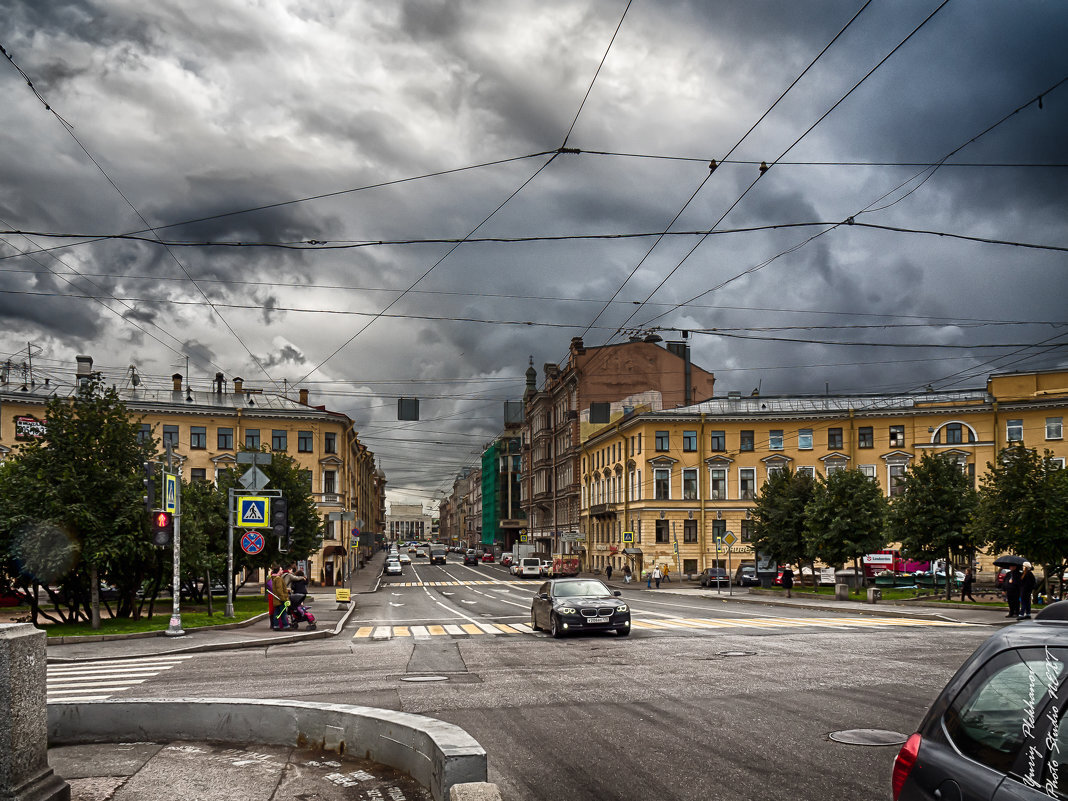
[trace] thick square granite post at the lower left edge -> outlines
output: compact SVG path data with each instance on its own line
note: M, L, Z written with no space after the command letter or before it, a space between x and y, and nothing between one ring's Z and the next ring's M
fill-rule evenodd
M48 767L45 632L0 624L0 798L69 801L70 785Z

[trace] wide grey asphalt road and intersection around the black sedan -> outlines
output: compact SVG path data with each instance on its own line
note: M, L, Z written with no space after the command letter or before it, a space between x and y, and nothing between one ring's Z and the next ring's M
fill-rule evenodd
M193 655L113 696L428 714L484 745L508 801L889 799L897 748L828 735L910 733L990 633L625 591L631 637L553 640L523 630L539 581L497 565L405 572L361 596L339 638Z

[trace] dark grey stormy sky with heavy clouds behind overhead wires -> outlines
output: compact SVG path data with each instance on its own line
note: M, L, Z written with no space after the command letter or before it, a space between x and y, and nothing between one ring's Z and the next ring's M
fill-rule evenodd
M0 0L0 44L72 126L0 63L0 230L38 232L0 235L0 357L30 343L45 374L85 352L162 383L189 356L195 386L221 370L308 387L357 421L404 500L450 488L528 359L559 361L577 335L691 330L722 393L1064 364L1066 254L1049 249L858 225L724 233L689 256L694 236L646 256L653 238L168 251L40 235L355 244L460 239L487 218L474 237L656 233L696 192L672 231L852 216L1068 246L1063 3L876 0L742 139L863 5L637 0L578 113L625 2ZM577 113L581 154L531 156ZM397 424L399 395L421 397L420 423Z

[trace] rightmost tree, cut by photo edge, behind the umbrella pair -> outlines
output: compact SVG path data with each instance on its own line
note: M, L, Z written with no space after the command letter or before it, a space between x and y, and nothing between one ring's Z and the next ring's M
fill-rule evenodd
M1047 581L1063 576L1068 557L1068 471L1049 451L1039 456L1022 443L1003 449L998 464L987 464L972 529L973 536L989 541L993 550L1019 553L1042 565Z

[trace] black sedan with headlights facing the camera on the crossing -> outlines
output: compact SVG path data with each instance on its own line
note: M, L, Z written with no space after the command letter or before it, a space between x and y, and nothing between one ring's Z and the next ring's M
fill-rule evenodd
M630 607L599 579L551 579L531 602L531 628L555 638L572 631L630 633Z

